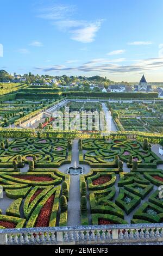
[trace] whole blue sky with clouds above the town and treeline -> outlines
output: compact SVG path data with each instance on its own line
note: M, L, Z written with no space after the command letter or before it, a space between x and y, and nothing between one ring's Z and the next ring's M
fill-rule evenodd
M0 69L163 82L162 13L162 0L1 1Z

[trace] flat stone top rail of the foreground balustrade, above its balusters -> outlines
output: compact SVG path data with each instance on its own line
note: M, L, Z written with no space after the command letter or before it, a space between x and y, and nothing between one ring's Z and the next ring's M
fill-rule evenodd
M0 229L1 234L39 233L39 232L64 232L64 231L91 231L91 230L118 230L118 229L163 229L163 223L142 223L142 224L116 224L116 225L76 225L65 227L46 228L15 228Z

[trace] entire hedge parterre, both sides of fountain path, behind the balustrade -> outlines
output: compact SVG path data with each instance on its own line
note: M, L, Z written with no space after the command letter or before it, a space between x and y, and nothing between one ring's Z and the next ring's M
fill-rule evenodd
M84 174L67 174L76 159ZM0 227L65 226L78 194L74 224L163 222L162 164L147 139L2 138Z

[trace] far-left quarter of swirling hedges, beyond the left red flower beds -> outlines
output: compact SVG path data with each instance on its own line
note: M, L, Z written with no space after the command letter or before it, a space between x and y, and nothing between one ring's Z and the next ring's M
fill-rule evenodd
M36 157L35 167L59 167L71 162L71 150L66 139L20 138L12 139L8 148L0 150L0 167L12 167L12 162L22 156L22 166Z

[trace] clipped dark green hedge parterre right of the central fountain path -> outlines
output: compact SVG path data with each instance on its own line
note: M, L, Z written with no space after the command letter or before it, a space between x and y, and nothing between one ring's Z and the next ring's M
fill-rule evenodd
M118 167L117 155L118 161L127 163L130 172ZM111 161L106 163L106 158ZM93 167L89 174L80 177L81 194L86 182L91 224L163 222L163 198L159 197L158 190L163 185L163 170L157 169L157 164L163 162L151 151L150 145L119 139L86 139L83 152L80 150L80 161ZM133 162L137 162L136 169ZM88 211L82 213L82 223L90 224Z

